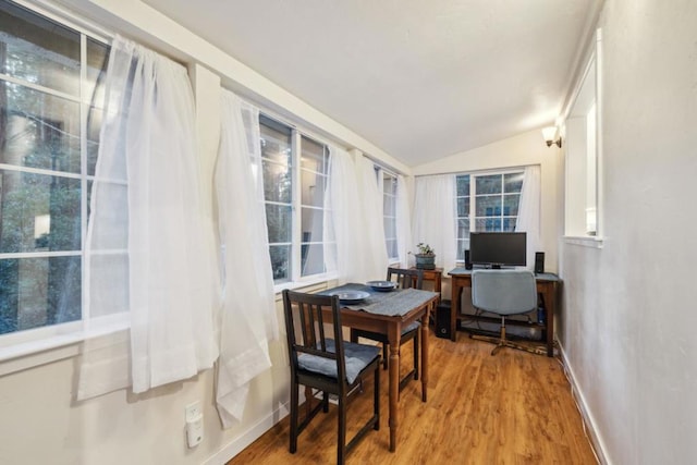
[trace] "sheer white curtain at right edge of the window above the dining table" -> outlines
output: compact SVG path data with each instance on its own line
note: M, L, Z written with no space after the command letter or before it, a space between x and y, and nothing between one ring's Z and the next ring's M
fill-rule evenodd
M325 262L339 284L364 279L363 240L356 170L351 155L329 147L329 180L325 192Z

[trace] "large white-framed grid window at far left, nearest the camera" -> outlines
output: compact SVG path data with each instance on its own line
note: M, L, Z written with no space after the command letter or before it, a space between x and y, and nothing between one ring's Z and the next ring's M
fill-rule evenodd
M0 345L10 333L83 318L108 52L84 33L0 2Z

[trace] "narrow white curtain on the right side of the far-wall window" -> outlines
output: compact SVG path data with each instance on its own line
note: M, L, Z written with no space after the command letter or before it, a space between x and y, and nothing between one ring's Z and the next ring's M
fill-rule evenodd
M523 189L518 204L516 231L526 232L527 268L535 268L535 252L540 250L540 167L534 164L525 168Z

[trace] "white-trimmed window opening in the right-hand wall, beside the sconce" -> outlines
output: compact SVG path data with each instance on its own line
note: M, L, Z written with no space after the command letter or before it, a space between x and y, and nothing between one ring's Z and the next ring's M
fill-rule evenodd
M600 32L598 32L599 47ZM564 124L566 236L592 237L599 231L597 51L586 68Z

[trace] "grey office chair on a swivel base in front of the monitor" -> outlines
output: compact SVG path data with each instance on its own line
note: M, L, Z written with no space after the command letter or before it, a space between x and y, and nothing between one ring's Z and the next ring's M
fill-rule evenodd
M497 344L496 355L502 347L513 347L534 354L546 354L536 347L516 344L505 338L505 318L537 309L535 274L528 270L474 270L472 272L472 305L501 317L499 338L473 334L470 338Z

